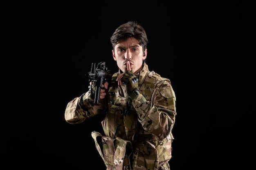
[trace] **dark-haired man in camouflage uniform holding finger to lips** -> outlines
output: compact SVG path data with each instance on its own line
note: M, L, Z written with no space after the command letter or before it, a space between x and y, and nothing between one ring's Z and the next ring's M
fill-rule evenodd
M65 120L79 124L98 114L104 134L92 132L107 170L170 170L176 97L169 79L149 71L148 39L137 22L120 25L112 37L119 71L102 84L99 104L89 91L72 99Z

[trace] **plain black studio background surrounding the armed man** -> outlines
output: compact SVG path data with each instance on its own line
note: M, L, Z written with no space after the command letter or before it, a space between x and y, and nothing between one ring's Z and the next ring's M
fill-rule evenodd
M3 163L105 169L90 136L102 131L103 117L70 125L65 107L88 90L92 62L117 71L110 36L136 20L148 35L149 69L171 79L177 97L171 169L246 167L252 139L245 134L255 109L249 7L244 1L161 0L8 7L3 91L11 90L2 119Z

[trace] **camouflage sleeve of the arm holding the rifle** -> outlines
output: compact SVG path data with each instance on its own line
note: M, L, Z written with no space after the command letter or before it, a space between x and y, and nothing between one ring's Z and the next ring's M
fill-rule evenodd
M98 106L92 106L88 100L88 94L86 92L80 97L72 99L67 104L65 109L65 120L67 123L79 124L106 110L106 101L104 99L100 99Z

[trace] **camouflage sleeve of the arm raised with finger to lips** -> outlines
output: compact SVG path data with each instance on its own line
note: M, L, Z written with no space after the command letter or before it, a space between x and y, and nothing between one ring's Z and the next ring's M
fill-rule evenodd
M139 94L133 99L132 105L144 130L163 139L171 133L175 123L175 102L176 97L171 84L162 80L157 83L150 101Z

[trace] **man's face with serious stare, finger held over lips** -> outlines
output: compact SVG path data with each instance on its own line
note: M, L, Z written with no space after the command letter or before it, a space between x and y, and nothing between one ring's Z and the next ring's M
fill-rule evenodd
M130 68L133 73L137 73L142 66L142 61L146 59L147 49L145 50L145 56L142 46L135 38L129 38L126 41L120 41L115 46L115 51L112 50L112 55L117 66L124 73L128 71L127 61L130 63Z

